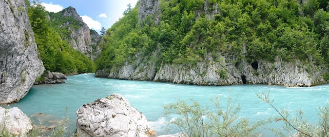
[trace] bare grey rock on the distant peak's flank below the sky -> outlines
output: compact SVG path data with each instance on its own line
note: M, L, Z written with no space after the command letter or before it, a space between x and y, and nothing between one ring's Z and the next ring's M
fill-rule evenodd
M78 29L68 28L68 30L71 31L71 34L69 38L65 39L69 42L72 48L86 54L91 60L98 57L98 53L100 52L100 47L98 46L98 43L101 40L100 35L96 31L89 29L87 24L83 22L82 17L73 7L64 9L62 15L71 16L82 24L82 27ZM67 22L60 27L66 27L69 24L70 23Z

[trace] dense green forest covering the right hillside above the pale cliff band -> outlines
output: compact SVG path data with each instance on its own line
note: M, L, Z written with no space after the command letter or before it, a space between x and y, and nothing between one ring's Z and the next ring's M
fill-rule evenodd
M122 66L139 53L159 49L157 62L193 64L218 53L248 62L265 60L328 65L329 13L324 0L159 0L160 23L153 15L138 24L138 4L128 6L103 36L96 69ZM159 63L160 62L160 63Z

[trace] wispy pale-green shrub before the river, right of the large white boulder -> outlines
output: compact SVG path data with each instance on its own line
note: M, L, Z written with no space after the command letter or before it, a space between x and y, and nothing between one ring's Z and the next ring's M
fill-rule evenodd
M177 103L164 105L165 115L178 115L169 124L174 124L187 136L258 136L255 129L269 121L250 123L247 118L239 118L240 104L236 99L227 97L226 106L222 107L219 96L210 100L216 107L210 111L198 102L177 100Z

